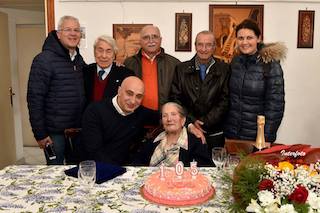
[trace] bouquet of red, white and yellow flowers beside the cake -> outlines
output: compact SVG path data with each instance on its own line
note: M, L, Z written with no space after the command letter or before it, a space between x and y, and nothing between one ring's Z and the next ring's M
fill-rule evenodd
M320 212L320 161L277 165L247 157L235 169L233 212Z

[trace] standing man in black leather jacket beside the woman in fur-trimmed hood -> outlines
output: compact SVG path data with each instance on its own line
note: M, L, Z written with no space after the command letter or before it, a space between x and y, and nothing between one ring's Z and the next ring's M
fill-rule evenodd
M229 65L213 57L214 34L202 31L196 55L177 66L170 100L185 107L188 129L212 147L224 145L223 118L228 108Z

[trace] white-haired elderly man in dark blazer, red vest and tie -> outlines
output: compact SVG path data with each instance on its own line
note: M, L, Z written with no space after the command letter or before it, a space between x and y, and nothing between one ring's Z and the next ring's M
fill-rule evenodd
M84 85L87 103L114 97L123 79L134 72L114 63L118 50L115 40L107 35L99 36L94 43L96 63L84 69Z

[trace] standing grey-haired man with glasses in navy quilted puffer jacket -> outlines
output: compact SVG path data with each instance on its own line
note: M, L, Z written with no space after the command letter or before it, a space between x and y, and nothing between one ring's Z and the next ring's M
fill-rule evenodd
M32 62L27 93L29 116L39 147L53 145L56 158L50 159L45 152L48 165L64 163L64 130L81 125L85 63L77 47L80 37L79 20L63 16L58 30L49 33L42 52Z

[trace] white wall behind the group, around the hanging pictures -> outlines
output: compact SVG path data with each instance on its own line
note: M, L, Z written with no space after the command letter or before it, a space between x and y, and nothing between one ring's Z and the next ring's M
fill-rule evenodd
M234 4L219 1L216 4ZM283 41L289 51L282 63L285 75L286 108L279 129L279 143L320 145L320 1L250 1L241 4L264 4L264 41ZM101 34L112 35L112 24L151 23L159 26L166 52L188 60L192 52L174 51L175 13L192 13L192 38L209 28L209 4L201 2L66 2L55 0L55 20L73 15L87 28L87 48L81 53L87 63L94 61L93 41ZM240 4L238 2L238 4ZM298 10L315 10L313 49L297 49Z

